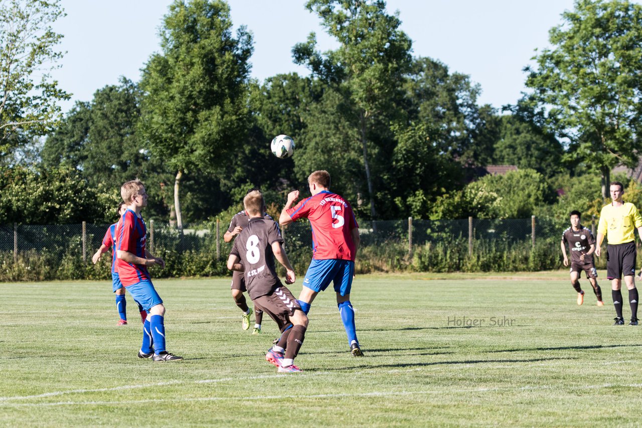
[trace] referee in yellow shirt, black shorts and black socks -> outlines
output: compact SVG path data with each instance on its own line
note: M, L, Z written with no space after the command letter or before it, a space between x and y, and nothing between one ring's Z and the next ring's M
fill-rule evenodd
M595 255L602 253L602 241L607 235L606 248L606 277L611 280L611 295L617 318L613 325L624 325L622 316L622 274L629 289L629 304L631 306L631 322L638 325L638 289L636 288L636 238L635 229L642 240L642 217L638 209L630 202L622 201L624 185L611 182L611 203L604 205L600 212L598 223L597 248Z

